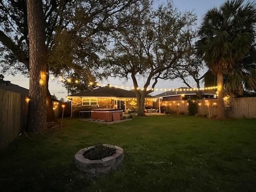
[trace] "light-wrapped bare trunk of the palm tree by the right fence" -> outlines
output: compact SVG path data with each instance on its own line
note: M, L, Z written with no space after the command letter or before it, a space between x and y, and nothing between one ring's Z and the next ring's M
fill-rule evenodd
M223 119L225 118L225 111L224 111L224 94L223 94L223 73L217 73L217 85L218 85L218 108L217 108L217 118Z

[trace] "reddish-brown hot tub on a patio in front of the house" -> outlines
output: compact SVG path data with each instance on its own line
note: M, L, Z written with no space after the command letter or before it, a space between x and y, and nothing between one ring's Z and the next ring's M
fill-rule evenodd
M123 110L120 109L94 109L92 119L105 120L105 122L118 121L122 119Z

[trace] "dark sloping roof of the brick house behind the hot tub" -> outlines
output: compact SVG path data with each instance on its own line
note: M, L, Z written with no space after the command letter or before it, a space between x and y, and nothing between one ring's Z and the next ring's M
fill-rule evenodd
M128 91L120 88L104 86L94 90L87 90L84 92L69 95L69 97L118 97L118 98L136 98L134 91ZM147 98L152 96L148 95Z

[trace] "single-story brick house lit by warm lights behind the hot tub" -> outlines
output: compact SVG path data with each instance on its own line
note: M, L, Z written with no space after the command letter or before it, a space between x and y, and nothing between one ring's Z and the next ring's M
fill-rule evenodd
M72 116L78 116L80 111L89 111L95 108L109 108L122 110L136 110L136 94L132 90L115 88L109 84L93 90L67 96L72 101ZM145 108L152 108L154 97L145 98Z

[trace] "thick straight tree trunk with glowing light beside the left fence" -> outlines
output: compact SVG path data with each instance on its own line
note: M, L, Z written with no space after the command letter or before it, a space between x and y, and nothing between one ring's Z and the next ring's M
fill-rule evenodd
M27 0L29 34L29 111L28 128L46 128L46 46L42 0Z

